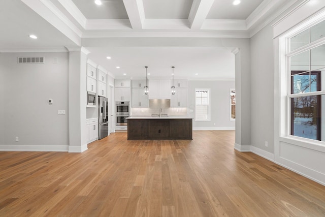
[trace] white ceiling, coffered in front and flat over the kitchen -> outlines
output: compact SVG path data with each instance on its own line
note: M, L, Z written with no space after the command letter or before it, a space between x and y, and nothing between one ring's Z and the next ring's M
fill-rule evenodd
M141 78L144 66L150 67L152 77L170 76L166 72L173 65L182 78L234 79L232 48L177 42L250 38L298 0L233 1L102 0L100 6L93 0L0 1L0 52L82 46L115 78ZM38 39L31 40L30 34Z

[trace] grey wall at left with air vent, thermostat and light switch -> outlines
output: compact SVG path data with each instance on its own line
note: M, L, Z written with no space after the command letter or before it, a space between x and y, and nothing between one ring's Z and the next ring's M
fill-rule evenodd
M44 56L44 64L17 64L18 56ZM0 53L0 150L67 151L69 53ZM57 64L55 64L57 58ZM53 99L53 104L48 104ZM4 103L5 102L5 103ZM66 110L58 115L57 110ZM15 137L19 142L15 142Z

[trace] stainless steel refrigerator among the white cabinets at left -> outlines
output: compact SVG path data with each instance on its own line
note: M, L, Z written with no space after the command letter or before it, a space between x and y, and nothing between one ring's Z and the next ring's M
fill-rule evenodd
M103 139L108 135L108 99L98 97L98 135Z

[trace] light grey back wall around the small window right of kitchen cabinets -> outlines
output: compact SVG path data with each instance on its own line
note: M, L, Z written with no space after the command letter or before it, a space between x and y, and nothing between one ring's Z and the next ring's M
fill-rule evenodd
M188 115L193 118L196 88L211 90L211 120L195 121L193 119L193 130L235 130L235 121L230 120L230 89L235 88L235 81L188 81L187 110Z

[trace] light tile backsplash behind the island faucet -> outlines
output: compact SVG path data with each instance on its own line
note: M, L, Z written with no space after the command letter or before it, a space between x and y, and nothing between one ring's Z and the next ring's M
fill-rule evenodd
M131 115L151 115L159 114L159 109L163 109L161 114L187 115L187 108L171 108L170 100L149 100L149 108L132 108Z

